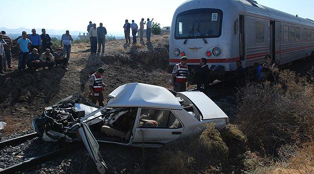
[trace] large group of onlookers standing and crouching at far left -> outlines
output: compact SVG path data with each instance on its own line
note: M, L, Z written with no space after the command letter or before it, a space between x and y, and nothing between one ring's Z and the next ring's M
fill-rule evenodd
M31 32L27 35L26 31L23 31L22 35L17 38L19 50L17 72L25 71L26 66L29 70L38 71L39 68L45 70L46 67L51 69L59 65L67 71L73 41L70 32L66 30L62 35L61 48L58 48L56 52L51 49L51 37L46 34L44 28L41 29L41 35L36 33L36 29L32 29ZM0 41L0 76L2 76L7 71L6 65L9 69L13 68L11 67L12 39L6 35L5 31L1 31Z

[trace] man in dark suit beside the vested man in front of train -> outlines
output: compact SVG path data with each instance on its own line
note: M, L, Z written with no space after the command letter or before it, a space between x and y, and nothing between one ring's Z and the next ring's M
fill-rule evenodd
M192 70L191 72L195 75L195 79L197 82L197 90L202 91L203 93L207 93L207 87L209 84L209 68L207 65L207 59L201 58L199 60L200 68Z

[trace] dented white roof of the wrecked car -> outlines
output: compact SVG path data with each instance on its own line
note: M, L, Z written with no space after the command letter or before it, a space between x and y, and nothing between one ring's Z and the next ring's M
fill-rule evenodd
M131 83L117 87L109 94L113 97L106 107L146 107L158 109L179 109L182 106L176 97L166 88Z

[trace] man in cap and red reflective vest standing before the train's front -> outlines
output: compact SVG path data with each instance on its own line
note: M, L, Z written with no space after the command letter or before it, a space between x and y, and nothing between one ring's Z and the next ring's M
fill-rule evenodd
M186 90L187 76L189 75L187 65L187 57L181 57L181 62L173 67L171 85L176 92L183 92ZM187 84L189 86L189 84Z

